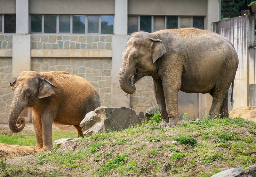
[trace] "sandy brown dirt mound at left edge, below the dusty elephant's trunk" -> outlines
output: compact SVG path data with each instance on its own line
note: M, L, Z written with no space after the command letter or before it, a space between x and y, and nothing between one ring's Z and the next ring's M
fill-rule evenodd
M43 152L41 149L36 149L34 146L20 146L20 145L7 145L0 143L0 157L13 159L15 157L22 157L30 154L38 154Z

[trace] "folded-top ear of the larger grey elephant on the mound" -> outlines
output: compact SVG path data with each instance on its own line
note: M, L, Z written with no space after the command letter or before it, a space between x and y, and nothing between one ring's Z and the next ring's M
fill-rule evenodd
M151 47L152 59L153 63L156 62L158 58L160 58L164 53L166 53L163 41L161 39L152 39L153 45Z

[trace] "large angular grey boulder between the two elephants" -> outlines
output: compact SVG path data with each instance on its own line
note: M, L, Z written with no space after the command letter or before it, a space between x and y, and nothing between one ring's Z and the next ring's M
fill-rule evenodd
M140 124L140 119L131 108L109 108L101 106L88 112L80 123L85 136L116 131Z

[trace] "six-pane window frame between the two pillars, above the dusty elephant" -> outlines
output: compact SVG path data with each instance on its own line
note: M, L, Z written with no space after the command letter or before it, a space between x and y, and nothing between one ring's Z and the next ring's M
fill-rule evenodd
M42 32L31 32L31 15L41 15L42 16ZM56 15L56 33L44 33L44 15ZM113 35L114 34L114 25L115 25L115 15L109 15L113 16L113 33L112 34L105 34L101 33L101 15L84 15L84 33L73 33L73 15L84 15L84 14L29 14L29 32L30 34L74 34L74 35L88 35L88 34L104 34L104 35ZM70 32L60 32L60 16L70 16ZM97 16L99 17L98 22L98 33L88 33L88 16Z

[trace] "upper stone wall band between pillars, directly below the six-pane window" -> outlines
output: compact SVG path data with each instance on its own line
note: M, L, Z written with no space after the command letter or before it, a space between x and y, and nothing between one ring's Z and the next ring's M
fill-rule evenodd
M111 35L31 35L31 49L109 49Z

